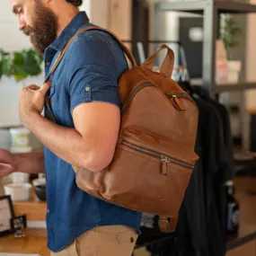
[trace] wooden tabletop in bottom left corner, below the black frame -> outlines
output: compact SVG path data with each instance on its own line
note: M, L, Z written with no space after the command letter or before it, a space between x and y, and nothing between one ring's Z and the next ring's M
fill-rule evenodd
M27 228L25 237L16 238L13 234L0 237L0 252L28 253L49 256L46 229Z

